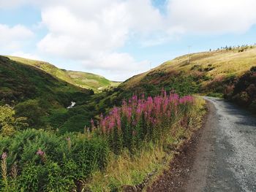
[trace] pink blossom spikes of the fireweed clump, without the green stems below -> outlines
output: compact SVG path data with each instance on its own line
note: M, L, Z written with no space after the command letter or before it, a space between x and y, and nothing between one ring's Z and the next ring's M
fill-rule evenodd
M146 123L150 123L152 127L156 128L162 126L163 118L172 118L172 115L178 113L179 104L189 104L193 101L192 96L179 97L178 94L170 92L167 96L166 91L162 90L159 96L145 96L138 99L137 96L132 96L127 101L122 101L121 107L113 107L109 114L103 117L99 117L99 130L105 134L111 133L113 128L118 128L122 131L122 123L125 127L135 128L143 115ZM124 121L123 121L124 120ZM94 121L91 120L91 125L94 126ZM140 125L141 126L141 125ZM142 125L144 126L144 124ZM140 128L140 127L138 127Z

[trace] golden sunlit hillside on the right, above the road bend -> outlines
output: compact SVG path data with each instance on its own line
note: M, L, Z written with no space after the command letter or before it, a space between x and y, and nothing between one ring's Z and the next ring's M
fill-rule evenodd
M188 61L189 59L189 61ZM161 88L181 94L221 96L225 88L256 66L256 47L183 55L121 83L124 90L157 92Z

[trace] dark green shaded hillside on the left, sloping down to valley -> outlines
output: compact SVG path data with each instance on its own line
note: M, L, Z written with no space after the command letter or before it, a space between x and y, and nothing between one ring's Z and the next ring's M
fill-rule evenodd
M42 98L65 106L76 94L87 96L89 92L37 67L0 56L0 101L4 104Z

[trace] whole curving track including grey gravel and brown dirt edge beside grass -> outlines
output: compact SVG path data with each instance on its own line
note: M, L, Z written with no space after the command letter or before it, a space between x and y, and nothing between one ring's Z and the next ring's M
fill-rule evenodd
M147 191L256 191L256 118L211 97L203 129Z

